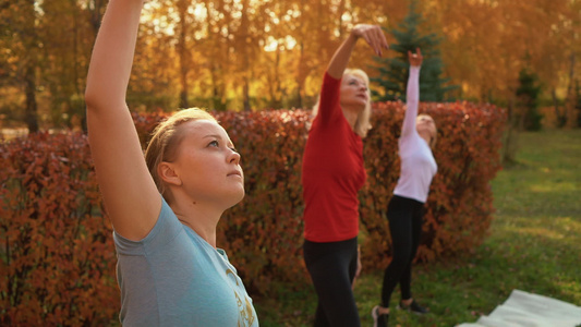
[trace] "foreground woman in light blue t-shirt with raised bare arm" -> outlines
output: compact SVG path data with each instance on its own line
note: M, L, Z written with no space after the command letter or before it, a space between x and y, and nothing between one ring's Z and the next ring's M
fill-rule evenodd
M123 326L258 326L216 226L244 196L240 155L207 112L180 111L143 157L125 104L142 0L110 0L87 76L89 145L118 253Z

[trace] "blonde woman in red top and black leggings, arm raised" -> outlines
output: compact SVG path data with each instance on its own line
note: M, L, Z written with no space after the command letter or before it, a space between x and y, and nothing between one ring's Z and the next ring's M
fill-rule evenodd
M315 326L360 326L351 284L358 270L359 201L365 182L363 143L371 129L368 77L347 70L359 38L380 56L379 26L356 25L335 52L303 157L306 268L318 295Z

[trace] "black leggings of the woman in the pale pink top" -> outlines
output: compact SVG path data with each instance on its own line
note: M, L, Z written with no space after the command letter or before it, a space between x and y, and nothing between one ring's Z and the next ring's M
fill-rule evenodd
M382 289L382 306L389 307L391 293L399 282L401 299L412 298L412 261L417 252L422 232L424 204L394 195L387 207L389 232L391 233L394 258L384 275Z

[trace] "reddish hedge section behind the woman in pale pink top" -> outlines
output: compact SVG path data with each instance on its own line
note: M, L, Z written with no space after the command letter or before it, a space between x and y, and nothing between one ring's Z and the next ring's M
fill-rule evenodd
M367 238L362 246L368 265L385 267L390 237L386 210L399 177L397 137L403 120L401 102L378 104L374 129L365 140L368 181L360 193L361 221ZM427 199L424 233L417 258L437 257L473 250L491 225L491 181L500 169L499 150L506 122L504 110L470 102L424 104L420 112L436 121L438 164Z

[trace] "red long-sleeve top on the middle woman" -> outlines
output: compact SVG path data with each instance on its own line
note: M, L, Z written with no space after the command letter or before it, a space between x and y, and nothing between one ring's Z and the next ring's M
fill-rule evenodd
M318 113L303 156L304 237L338 242L359 233L358 191L365 183L363 142L340 107L341 80L325 73Z

